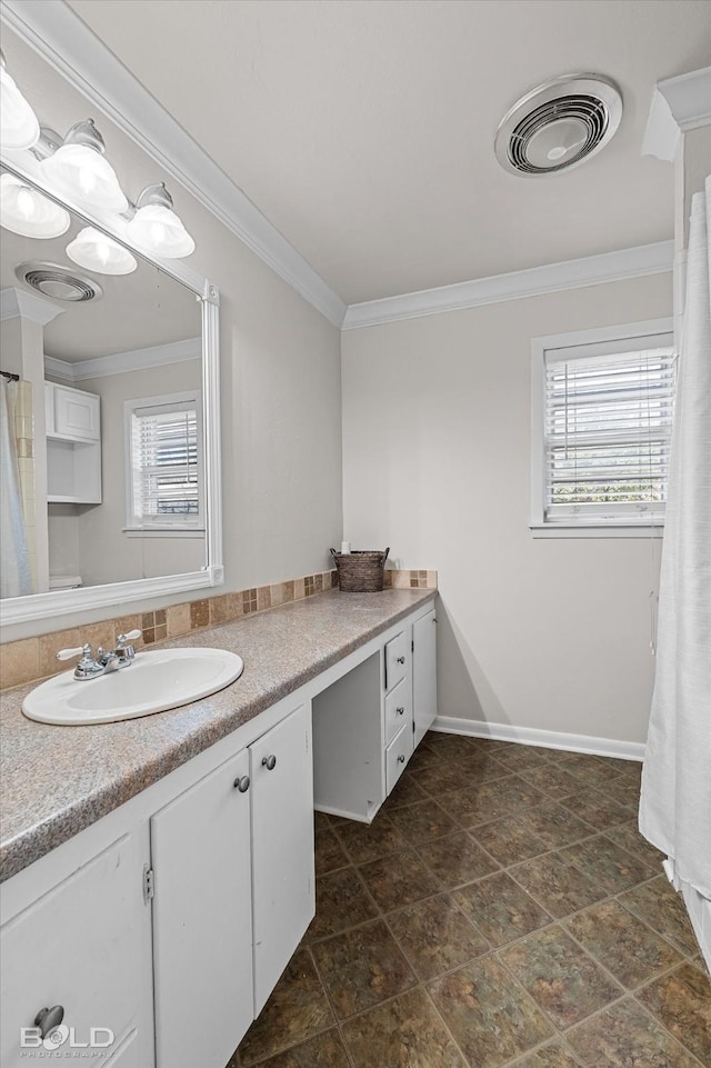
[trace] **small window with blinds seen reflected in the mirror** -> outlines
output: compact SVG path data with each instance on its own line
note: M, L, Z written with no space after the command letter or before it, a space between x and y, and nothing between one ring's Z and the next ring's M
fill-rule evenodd
M124 405L126 530L204 530L200 392Z

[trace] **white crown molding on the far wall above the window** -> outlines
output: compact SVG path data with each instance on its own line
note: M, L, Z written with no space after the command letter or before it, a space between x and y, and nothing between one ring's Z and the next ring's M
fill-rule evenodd
M600 286L604 282L623 281L643 275L661 275L672 270L673 241L658 241L617 252L603 252L563 263L531 267L508 275L492 275L470 282L424 289L402 297L387 297L350 305L343 320L343 330L357 330L399 319L418 319L447 311L479 308L481 305L540 297L543 293Z

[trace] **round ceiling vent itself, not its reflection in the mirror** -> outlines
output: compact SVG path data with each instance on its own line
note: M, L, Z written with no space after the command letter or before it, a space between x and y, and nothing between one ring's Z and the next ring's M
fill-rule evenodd
M497 130L497 159L518 174L570 170L608 143L621 118L622 97L609 78L562 74L507 112Z

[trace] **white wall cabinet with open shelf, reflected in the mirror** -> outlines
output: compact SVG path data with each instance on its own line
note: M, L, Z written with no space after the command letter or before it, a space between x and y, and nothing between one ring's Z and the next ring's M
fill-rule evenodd
M47 499L101 503L101 411L97 393L44 382Z

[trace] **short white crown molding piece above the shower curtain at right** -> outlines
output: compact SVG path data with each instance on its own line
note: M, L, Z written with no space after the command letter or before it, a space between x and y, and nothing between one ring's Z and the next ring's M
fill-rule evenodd
M642 141L642 156L673 160L687 130L711 123L711 67L657 83Z

